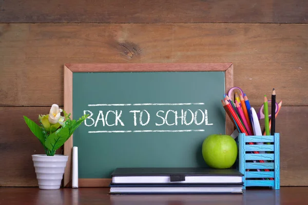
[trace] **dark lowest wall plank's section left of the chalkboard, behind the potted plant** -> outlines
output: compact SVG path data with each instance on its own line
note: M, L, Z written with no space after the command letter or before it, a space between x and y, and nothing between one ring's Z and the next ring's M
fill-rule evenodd
M0 187L36 187L32 154L45 154L23 115L38 123L39 114L50 107L0 107ZM63 154L60 148L56 154Z

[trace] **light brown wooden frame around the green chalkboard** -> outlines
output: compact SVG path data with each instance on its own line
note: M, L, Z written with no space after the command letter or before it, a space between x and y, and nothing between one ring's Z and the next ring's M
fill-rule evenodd
M225 72L226 92L234 86L233 63L153 63L153 64L65 64L64 65L64 110L73 111L73 73L75 72ZM234 125L226 117L226 134L234 131ZM71 187L73 136L64 144L64 155L68 156L64 173L64 187ZM108 187L111 179L79 179L79 187Z

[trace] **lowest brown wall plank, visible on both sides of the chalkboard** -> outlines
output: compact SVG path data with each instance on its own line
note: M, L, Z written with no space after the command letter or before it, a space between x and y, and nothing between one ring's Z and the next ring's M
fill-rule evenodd
M26 126L23 115L37 119L49 107L0 107L0 187L37 186L31 154L44 150ZM257 109L257 108L256 108ZM14 116L9 117L8 116ZM308 185L308 107L283 106L276 118L280 133L280 186ZM292 124L292 125L291 125ZM62 149L57 153L61 153Z

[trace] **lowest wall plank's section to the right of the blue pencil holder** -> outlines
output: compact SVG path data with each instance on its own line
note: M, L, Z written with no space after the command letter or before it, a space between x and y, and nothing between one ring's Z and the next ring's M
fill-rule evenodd
M276 118L280 133L280 186L308 185L308 107L287 107L283 104Z

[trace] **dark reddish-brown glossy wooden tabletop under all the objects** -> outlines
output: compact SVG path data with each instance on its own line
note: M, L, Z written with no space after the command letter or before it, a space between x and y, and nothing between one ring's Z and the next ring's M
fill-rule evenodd
M109 195L108 188L0 188L0 204L307 204L308 187L244 190L237 195Z

